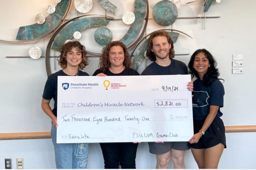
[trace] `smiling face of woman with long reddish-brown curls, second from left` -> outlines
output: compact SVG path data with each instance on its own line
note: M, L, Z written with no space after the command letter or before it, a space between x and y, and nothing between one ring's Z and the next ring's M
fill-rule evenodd
M124 49L121 46L112 46L109 49L110 67L122 67L124 63Z

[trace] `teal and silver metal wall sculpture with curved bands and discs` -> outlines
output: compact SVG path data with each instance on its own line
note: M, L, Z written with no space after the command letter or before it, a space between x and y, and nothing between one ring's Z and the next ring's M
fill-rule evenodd
M105 15L81 15L75 18L69 19L67 22L63 23L67 14L70 10L72 0L54 0L56 3L56 7L52 5L47 6L47 12L50 13L45 18L45 22L43 19L39 19L38 23L30 25L30 26L21 26L16 40L18 41L5 41L5 42L27 42L27 41L36 41L43 39L52 34L50 41L48 42L45 54L45 63L46 63L46 71L47 75L50 75L50 53L51 50L60 51L61 46L67 42L72 41L74 39L80 39L83 31L92 27L99 27L94 33L94 40L101 46L105 46L108 42L112 41L113 33L109 28L107 28L108 23L112 21L118 21L121 19L113 18L107 15L107 11L116 15L117 7L110 3L108 0L97 0L97 2L102 5L102 7L106 10ZM196 2L188 2L187 4ZM221 0L204 0L204 4L202 10L204 8L204 13L209 10L214 2L220 2ZM87 4L81 4L81 3ZM115 1L114 1L115 2ZM92 0L80 1L75 0L75 6L77 11L81 13L87 12L92 8ZM202 11L201 11L202 12ZM173 1L163 0L159 1L155 4L152 11L154 21L160 26L170 26L172 25L176 19L178 18L178 9ZM134 56L132 68L138 70L140 63L145 58L144 53L148 44L148 37L150 34L146 33L146 28L148 24L149 16L149 2L148 0L134 0L134 11L127 11L123 14L123 22L125 24L130 24L128 31L124 34L124 36L119 40L123 42L128 49L132 49L131 58ZM193 17L191 17L193 18ZM196 18L196 17L194 17ZM201 18L201 15L200 15ZM150 18L151 19L151 18ZM161 27L159 28L161 29ZM188 34L183 33L179 30L173 29L165 29L170 32L170 36L173 41L176 42L179 34L182 33L190 37ZM145 34L145 35L144 35ZM192 37L190 37L192 38ZM0 40L4 41L4 40ZM33 47L33 49L37 49ZM32 54L33 51L36 51L35 54ZM39 58L38 51L40 50L31 50L29 53L31 58ZM100 56L101 53L88 51L92 56ZM133 55L135 54L135 55ZM55 57L55 56L54 56ZM55 62L55 58L54 58ZM54 63L55 67L55 63Z

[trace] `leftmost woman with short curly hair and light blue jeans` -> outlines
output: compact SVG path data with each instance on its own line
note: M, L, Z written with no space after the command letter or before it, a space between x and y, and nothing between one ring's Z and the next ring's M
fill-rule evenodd
M52 119L52 143L55 151L55 162L58 169L77 169L87 168L88 160L88 143L77 144L57 144L57 85L58 76L89 76L86 72L82 71L87 63L86 50L83 45L78 41L71 41L64 44L61 48L59 65L62 70L51 74L45 83L44 93L42 98L42 109ZM53 98L54 108L51 109L50 101ZM83 146L83 147L81 147ZM79 148L83 149L83 154L79 155L75 151Z

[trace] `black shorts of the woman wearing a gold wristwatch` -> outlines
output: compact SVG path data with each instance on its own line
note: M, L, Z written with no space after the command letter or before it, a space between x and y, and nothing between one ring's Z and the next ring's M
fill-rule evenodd
M194 134L198 133L202 128L205 120L194 120ZM223 144L226 146L225 126L223 121L219 117L215 117L212 124L205 131L204 135L200 137L198 143L189 144L194 149L206 149L216 146L217 144Z

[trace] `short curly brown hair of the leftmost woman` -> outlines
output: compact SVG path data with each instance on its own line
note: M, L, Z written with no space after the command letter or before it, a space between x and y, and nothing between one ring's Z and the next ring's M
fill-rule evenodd
M82 45L79 41L69 41L61 47L60 58L58 60L59 65L62 69L67 67L67 53L71 51L72 48L76 48L76 50L82 53L82 61L78 65L78 70L83 70L84 67L88 65L86 57L87 51L85 50L84 45Z

